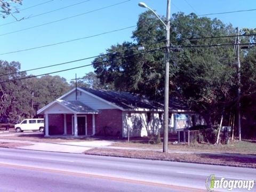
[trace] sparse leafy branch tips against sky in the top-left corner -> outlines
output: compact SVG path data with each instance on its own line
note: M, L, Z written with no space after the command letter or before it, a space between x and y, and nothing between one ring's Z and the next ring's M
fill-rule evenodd
M1 11L2 14L0 14L0 15L3 18L5 18L6 15L10 15L10 14L14 17L12 10L15 9L15 11L18 11L17 7L15 7L15 5L14 5L14 4L17 4L17 3L21 5L22 0L10 0L10 1L0 0L0 6L1 6L1 9L2 9L2 11Z

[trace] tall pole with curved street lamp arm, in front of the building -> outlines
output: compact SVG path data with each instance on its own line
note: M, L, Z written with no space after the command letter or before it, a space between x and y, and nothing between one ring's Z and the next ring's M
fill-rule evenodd
M153 12L156 17L164 24L166 30L166 51L165 51L165 85L164 85L164 145L163 152L168 153L168 120L169 120L169 46L170 46L170 0L167 0L167 24L159 17L159 15L152 10L146 3L140 2L140 7L147 8Z

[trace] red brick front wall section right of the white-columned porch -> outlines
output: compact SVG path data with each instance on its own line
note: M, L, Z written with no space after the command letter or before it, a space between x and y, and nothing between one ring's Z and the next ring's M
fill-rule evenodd
M95 115L95 133L97 135L122 135L122 111L119 109L101 109Z

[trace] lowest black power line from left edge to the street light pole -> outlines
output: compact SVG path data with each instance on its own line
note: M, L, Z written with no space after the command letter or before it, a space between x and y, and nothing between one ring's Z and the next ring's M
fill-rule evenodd
M45 73L45 74L41 74L41 75L33 75L33 76L27 76L27 77L22 77L22 78L17 78L17 79L11 79L11 80L7 80L7 81L2 81L2 82L0 82L0 83L14 82L14 81L19 81L19 80L27 79L27 78L39 77L39 76L43 76L43 75L51 75L51 74L60 73L60 72L63 72L63 71L74 70L74 69L79 69L79 68L83 68L83 67L87 67L87 66L92 66L93 64L100 64L100 63L104 63L104 62L108 62L108 61L114 61L114 60L124 59L124 58L131 57L131 56L138 55L138 54L143 54L143 53L149 53L149 52L159 51L159 50L162 50L162 49L164 49L164 48L165 48L165 47L159 47L159 48L156 48L156 49L152 49L152 50L148 50L148 51L143 51L143 52L140 52L140 53L134 53L134 54L131 54L131 55L126 55L126 56L124 56L124 57L114 58L114 59L111 59L111 60L105 60L105 61L95 62L95 63L91 63L91 64L88 64L88 65L83 65L83 66L79 66L79 67L73 67L73 68L69 68L69 69L63 69L63 70L59 70L59 71L53 71L53 72ZM86 58L85 58L85 59L86 59ZM84 60L85 60L85 59L84 59ZM75 61L69 61L69 63L70 63L70 62L75 62Z

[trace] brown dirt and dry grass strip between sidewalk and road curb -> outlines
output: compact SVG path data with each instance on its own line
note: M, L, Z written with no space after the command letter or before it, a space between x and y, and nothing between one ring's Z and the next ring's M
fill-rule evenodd
M175 161L187 163L201 163L224 166L250 167L256 169L256 159L246 157L230 157L199 154L164 154L157 151L123 150L123 149L90 149L84 152L90 155L103 155L115 157L129 157L141 159L154 159L162 161Z

